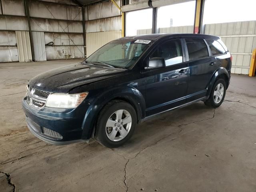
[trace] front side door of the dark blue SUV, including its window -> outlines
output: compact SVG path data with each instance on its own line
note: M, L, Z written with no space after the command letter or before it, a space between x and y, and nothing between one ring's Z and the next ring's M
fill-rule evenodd
M168 40L150 54L164 58L166 66L146 70L146 116L164 112L186 103L188 64L180 39Z

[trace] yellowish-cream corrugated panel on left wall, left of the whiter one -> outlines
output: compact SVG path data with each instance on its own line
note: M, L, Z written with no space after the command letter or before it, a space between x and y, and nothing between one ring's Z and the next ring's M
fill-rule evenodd
M30 39L28 31L16 31L20 62L32 61Z

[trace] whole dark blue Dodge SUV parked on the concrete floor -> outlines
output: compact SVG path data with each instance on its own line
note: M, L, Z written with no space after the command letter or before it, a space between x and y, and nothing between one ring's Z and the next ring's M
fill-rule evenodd
M114 148L146 118L224 100L232 56L216 36L150 34L114 40L84 62L30 80L22 102L30 131L51 144L95 138Z

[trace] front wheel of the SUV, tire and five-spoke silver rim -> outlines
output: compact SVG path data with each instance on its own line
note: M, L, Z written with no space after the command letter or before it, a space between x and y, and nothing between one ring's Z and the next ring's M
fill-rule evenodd
M131 138L136 124L137 115L134 108L122 100L113 100L101 110L94 138L105 147L116 148Z

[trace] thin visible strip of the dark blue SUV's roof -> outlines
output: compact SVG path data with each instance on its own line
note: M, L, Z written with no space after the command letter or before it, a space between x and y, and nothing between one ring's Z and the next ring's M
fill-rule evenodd
M161 34L146 34L146 35L136 35L136 36L126 36L126 37L122 37L119 38L118 40L122 40L122 39L147 39L147 40L157 40L159 38L162 37L182 37L182 38L186 38L186 37L194 37L194 38L210 38L210 39L219 39L218 36L212 36L212 35L205 35L205 34L192 34L192 33L172 33L172 34L168 34L168 33L161 33Z

